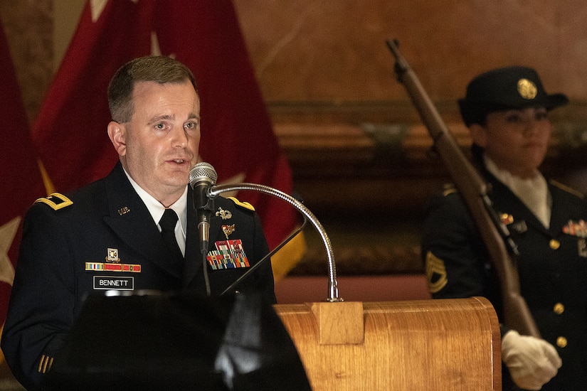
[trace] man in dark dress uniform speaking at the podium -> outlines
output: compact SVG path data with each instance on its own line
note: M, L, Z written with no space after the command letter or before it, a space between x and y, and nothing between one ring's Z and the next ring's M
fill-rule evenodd
M51 368L85 295L105 289L208 294L188 186L201 136L194 76L171 58L138 58L114 75L108 102L107 133L120 162L78 191L38 200L24 221L1 348L30 390ZM251 205L222 197L214 205L206 263L213 296L269 252ZM164 215L171 215L179 249L166 247ZM221 251L225 262L216 262ZM265 262L236 289L274 304L273 288Z

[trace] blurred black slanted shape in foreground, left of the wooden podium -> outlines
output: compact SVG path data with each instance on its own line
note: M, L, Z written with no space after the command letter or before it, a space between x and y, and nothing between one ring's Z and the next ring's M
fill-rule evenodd
M311 390L260 296L90 295L44 390Z

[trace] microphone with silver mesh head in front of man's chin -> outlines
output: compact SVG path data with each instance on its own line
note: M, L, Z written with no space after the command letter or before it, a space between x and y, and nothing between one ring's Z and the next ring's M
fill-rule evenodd
M216 184L218 174L213 166L206 162L200 162L189 171L189 186L194 189L194 208L198 213L198 230L200 232L200 252L208 252L208 239L210 237L210 218L214 208L213 200L208 195L208 190Z

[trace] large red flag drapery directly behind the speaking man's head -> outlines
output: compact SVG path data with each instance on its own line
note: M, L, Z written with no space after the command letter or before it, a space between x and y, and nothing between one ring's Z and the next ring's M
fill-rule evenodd
M230 0L88 1L33 126L58 191L105 176L115 164L106 134L107 84L120 65L149 54L173 56L194 72L201 156L216 168L218 183L245 181L291 192L290 167ZM239 197L257 208L271 248L295 228L297 212L284 201L258 192ZM301 257L295 248L288 261Z

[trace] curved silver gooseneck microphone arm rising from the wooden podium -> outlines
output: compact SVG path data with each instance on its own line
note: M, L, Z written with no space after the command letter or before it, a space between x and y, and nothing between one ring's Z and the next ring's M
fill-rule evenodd
M294 208L299 210L307 220L310 220L310 223L314 225L314 228L318 231L320 237L322 238L322 242L324 243L324 247L326 250L326 255L328 257L328 297L327 301L343 301L339 297L339 289L338 289L338 282L337 282L337 270L334 264L334 255L332 252L332 245L330 243L330 239L326 232L324 231L324 227L322 224L319 223L318 219L314 216L312 212L308 208L305 207L299 200L296 200L291 195L283 193L275 188L271 188L269 186L259 185L257 183L236 183L233 185L218 185L218 186L210 186L207 190L207 195L210 198L216 197L218 194L231 192L231 191L260 191L261 193L265 193L268 195L273 195L274 197L280 198L281 200L290 203ZM295 235L295 234L294 234ZM263 258L265 259L265 258ZM260 263L260 262L258 262Z

